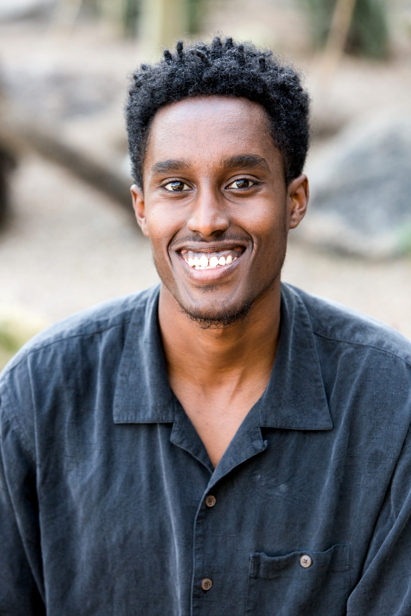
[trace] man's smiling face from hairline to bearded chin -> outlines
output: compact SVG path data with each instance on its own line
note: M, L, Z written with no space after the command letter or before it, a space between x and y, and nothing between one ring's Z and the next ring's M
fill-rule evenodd
M143 177L134 206L166 288L202 325L243 316L279 279L293 226L266 112L223 96L161 108Z

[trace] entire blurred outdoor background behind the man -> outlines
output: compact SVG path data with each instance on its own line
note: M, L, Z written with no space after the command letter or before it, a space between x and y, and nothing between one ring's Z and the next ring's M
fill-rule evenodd
M312 96L283 280L411 338L411 0L1 0L0 367L157 282L129 197L129 75L178 38L271 47Z

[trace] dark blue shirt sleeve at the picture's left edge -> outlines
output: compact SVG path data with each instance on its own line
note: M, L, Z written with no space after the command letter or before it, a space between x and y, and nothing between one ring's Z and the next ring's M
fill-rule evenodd
M0 395L0 614L42 616L35 452Z

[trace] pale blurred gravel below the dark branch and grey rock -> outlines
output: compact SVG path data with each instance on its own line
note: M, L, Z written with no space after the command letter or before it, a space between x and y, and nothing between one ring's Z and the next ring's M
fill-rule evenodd
M26 158L0 234L0 317L31 329L157 282L136 223L52 164ZM303 223L304 224L304 221ZM283 280L347 304L411 338L411 260L367 262L290 240Z

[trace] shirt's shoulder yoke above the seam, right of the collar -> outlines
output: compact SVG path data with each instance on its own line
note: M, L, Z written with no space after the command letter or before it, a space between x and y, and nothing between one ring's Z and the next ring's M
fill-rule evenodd
M338 302L285 286L303 301L317 339L341 349L351 347L357 352L385 355L411 368L411 342L397 330Z

